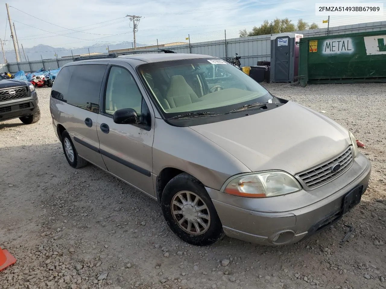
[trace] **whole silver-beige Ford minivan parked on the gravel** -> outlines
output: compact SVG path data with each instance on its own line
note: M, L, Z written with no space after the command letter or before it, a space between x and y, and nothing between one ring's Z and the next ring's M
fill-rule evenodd
M370 177L347 129L209 55L71 62L50 110L69 165L92 163L158 200L194 245L298 242L357 205Z

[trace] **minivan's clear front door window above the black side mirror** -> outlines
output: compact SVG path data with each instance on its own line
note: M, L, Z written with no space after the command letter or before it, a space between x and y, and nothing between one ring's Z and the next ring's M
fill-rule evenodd
M105 112L113 114L122 108L132 108L141 114L142 94L135 79L122 67L112 66L108 74Z

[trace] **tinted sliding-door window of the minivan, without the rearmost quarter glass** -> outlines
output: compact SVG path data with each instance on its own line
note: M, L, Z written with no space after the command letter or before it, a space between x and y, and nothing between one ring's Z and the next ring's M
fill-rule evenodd
M107 65L86 64L69 67L73 71L64 100L73 106L99 113L99 94ZM54 85L56 86L56 80Z

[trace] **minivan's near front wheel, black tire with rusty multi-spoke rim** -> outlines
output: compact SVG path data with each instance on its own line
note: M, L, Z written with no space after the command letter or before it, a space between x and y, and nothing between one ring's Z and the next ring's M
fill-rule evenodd
M207 246L223 236L222 224L204 186L182 173L166 185L161 198L169 228L185 242Z

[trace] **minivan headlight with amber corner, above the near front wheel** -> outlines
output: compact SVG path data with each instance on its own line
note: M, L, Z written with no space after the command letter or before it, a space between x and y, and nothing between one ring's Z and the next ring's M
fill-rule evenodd
M224 185L224 193L247 198L276 197L301 190L298 181L283 171L241 175Z

